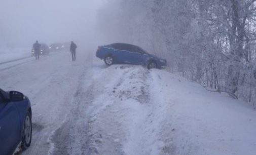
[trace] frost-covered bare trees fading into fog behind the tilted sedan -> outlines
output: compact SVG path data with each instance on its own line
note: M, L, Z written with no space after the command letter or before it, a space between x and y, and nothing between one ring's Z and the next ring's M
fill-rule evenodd
M255 103L255 1L109 1L98 25L109 42L139 45L206 89Z

